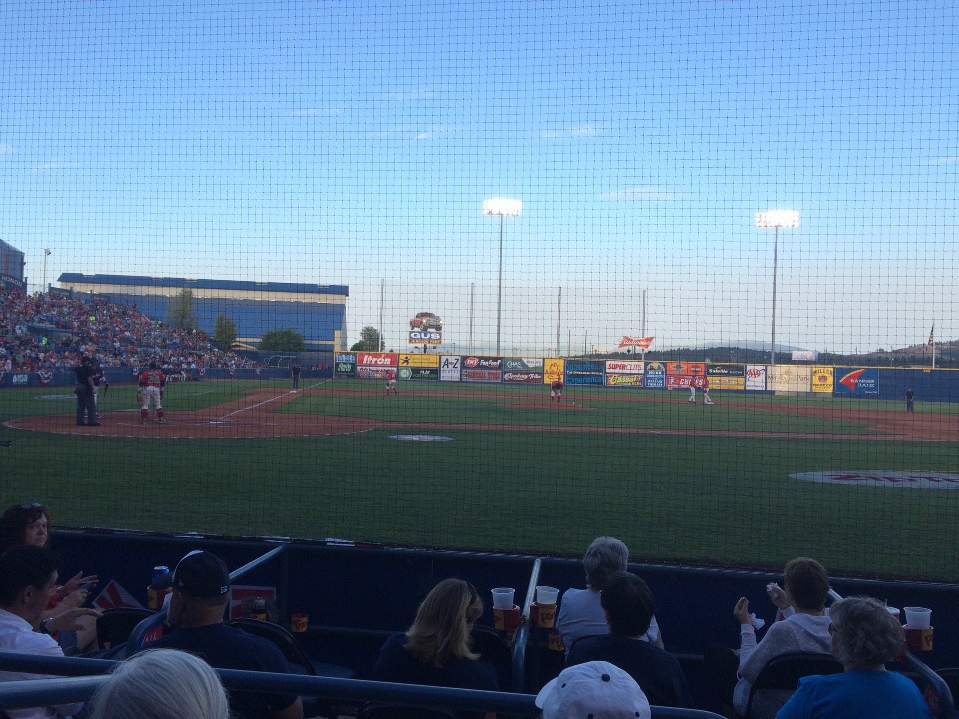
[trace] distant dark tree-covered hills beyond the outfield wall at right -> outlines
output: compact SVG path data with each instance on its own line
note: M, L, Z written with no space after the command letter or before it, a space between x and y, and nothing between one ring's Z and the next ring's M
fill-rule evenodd
M925 355L923 350L925 349ZM595 358L622 359L631 357L625 350L611 353L596 353L590 355ZM739 364L765 364L769 361L769 349L748 349L745 347L681 347L675 350L647 352L646 359L660 361L691 361L691 362L734 362ZM836 364L836 365L866 365L880 367L929 367L932 364L932 348L924 344L915 344L897 350L879 349L860 355L839 355L833 352L820 352L815 362L793 362L791 352L776 352L776 361L780 364ZM959 367L959 340L952 340L942 344L936 343L936 367Z

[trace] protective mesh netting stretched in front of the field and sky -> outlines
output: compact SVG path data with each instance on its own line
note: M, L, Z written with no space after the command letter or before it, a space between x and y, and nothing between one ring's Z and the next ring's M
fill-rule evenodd
M954 3L0 12L6 504L959 578Z

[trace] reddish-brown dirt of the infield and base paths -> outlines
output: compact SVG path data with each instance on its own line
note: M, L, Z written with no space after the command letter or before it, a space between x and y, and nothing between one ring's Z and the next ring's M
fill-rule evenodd
M841 420L845 422L865 423L878 433L857 434L831 432L778 432L739 431L734 429L668 429L668 428L618 428L618 427L556 427L539 424L472 424L442 422L382 422L362 417L331 417L323 414L295 414L292 412L274 412L276 407L286 405L303 394L348 396L350 394L382 394L382 390L358 387L356 392L343 389L301 389L294 394L290 390L277 388L258 389L245 397L223 405L206 407L192 411L168 411L167 423L158 424L156 413L151 412L150 421L140 424L139 410L106 412L101 419L102 427L77 427L73 414L55 416L25 417L5 422L12 429L58 432L62 434L93 434L105 437L152 437L156 439L251 439L259 437L313 437L334 434L353 434L371 429L424 429L451 430L467 429L477 431L549 431L575 433L608 434L660 434L693 435L713 437L765 437L796 439L856 439L856 440L895 440L895 441L959 441L959 417L947 414L907 414L887 409L858 409L855 407L804 406L804 405L754 405L737 402L734 397L717 397L717 406L735 406L753 411L765 411L771 414L792 414L821 419ZM417 396L434 395L443 397L478 398L476 392L421 390ZM510 399L511 402L496 403L497 406L511 408L537 409L540 411L576 411L592 410L595 406L582 406L580 402L596 405L602 402L660 402L685 403L682 397L654 395L629 397L605 397L601 394L584 395L576 398L576 405L564 401L562 404L550 403L542 398L517 399L515 395L494 392L486 395L488 399ZM704 411L712 411L701 407Z

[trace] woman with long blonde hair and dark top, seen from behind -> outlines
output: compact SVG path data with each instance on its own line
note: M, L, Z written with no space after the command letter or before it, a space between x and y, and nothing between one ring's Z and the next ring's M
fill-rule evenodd
M498 691L493 666L478 661L470 648L470 634L482 611L473 585L444 579L427 594L409 630L386 639L370 679Z

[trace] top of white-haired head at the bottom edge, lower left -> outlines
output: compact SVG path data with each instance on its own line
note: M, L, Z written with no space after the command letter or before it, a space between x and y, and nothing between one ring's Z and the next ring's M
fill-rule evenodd
M148 649L110 672L90 719L229 719L220 677L198 657Z

